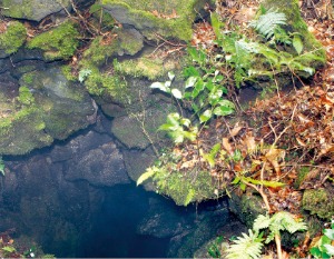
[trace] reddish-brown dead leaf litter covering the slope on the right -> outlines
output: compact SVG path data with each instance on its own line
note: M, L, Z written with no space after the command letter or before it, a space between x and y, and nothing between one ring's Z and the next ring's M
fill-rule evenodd
M258 1L250 0L222 2L216 11L229 17L228 22L239 24L248 22L258 7ZM249 102L248 108L239 106L238 116L232 120L217 119L200 130L196 142L174 149L184 157L179 170L200 167L210 171L222 189L233 183L236 173L246 171L246 177L253 179L246 186L262 195L271 213L289 211L296 217L303 217L305 190L323 188L334 197L334 12L326 6L328 1L311 2L311 6L301 2L301 12L308 30L326 51L326 66L312 80L294 77L288 91L277 88ZM209 49L214 40L210 24L198 23L191 43ZM217 142L222 142L222 150L229 156L238 150L239 159L216 159L213 165L198 158L198 150L210 153ZM258 185L265 182L267 188ZM274 182L284 187L276 188ZM293 252L305 257L316 239L307 237L303 247Z

